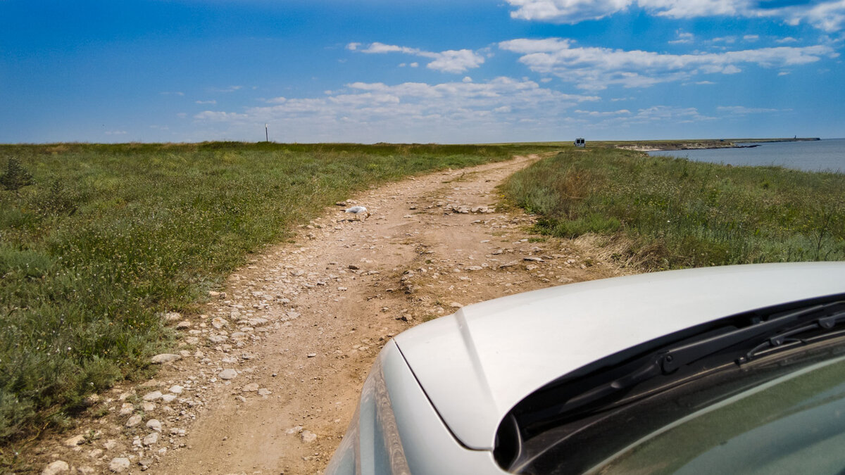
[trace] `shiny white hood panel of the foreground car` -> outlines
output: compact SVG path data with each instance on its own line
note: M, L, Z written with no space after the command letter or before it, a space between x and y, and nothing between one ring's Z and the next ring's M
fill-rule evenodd
M395 341L455 437L493 450L511 407L587 363L713 319L843 292L842 262L673 270L476 303Z

